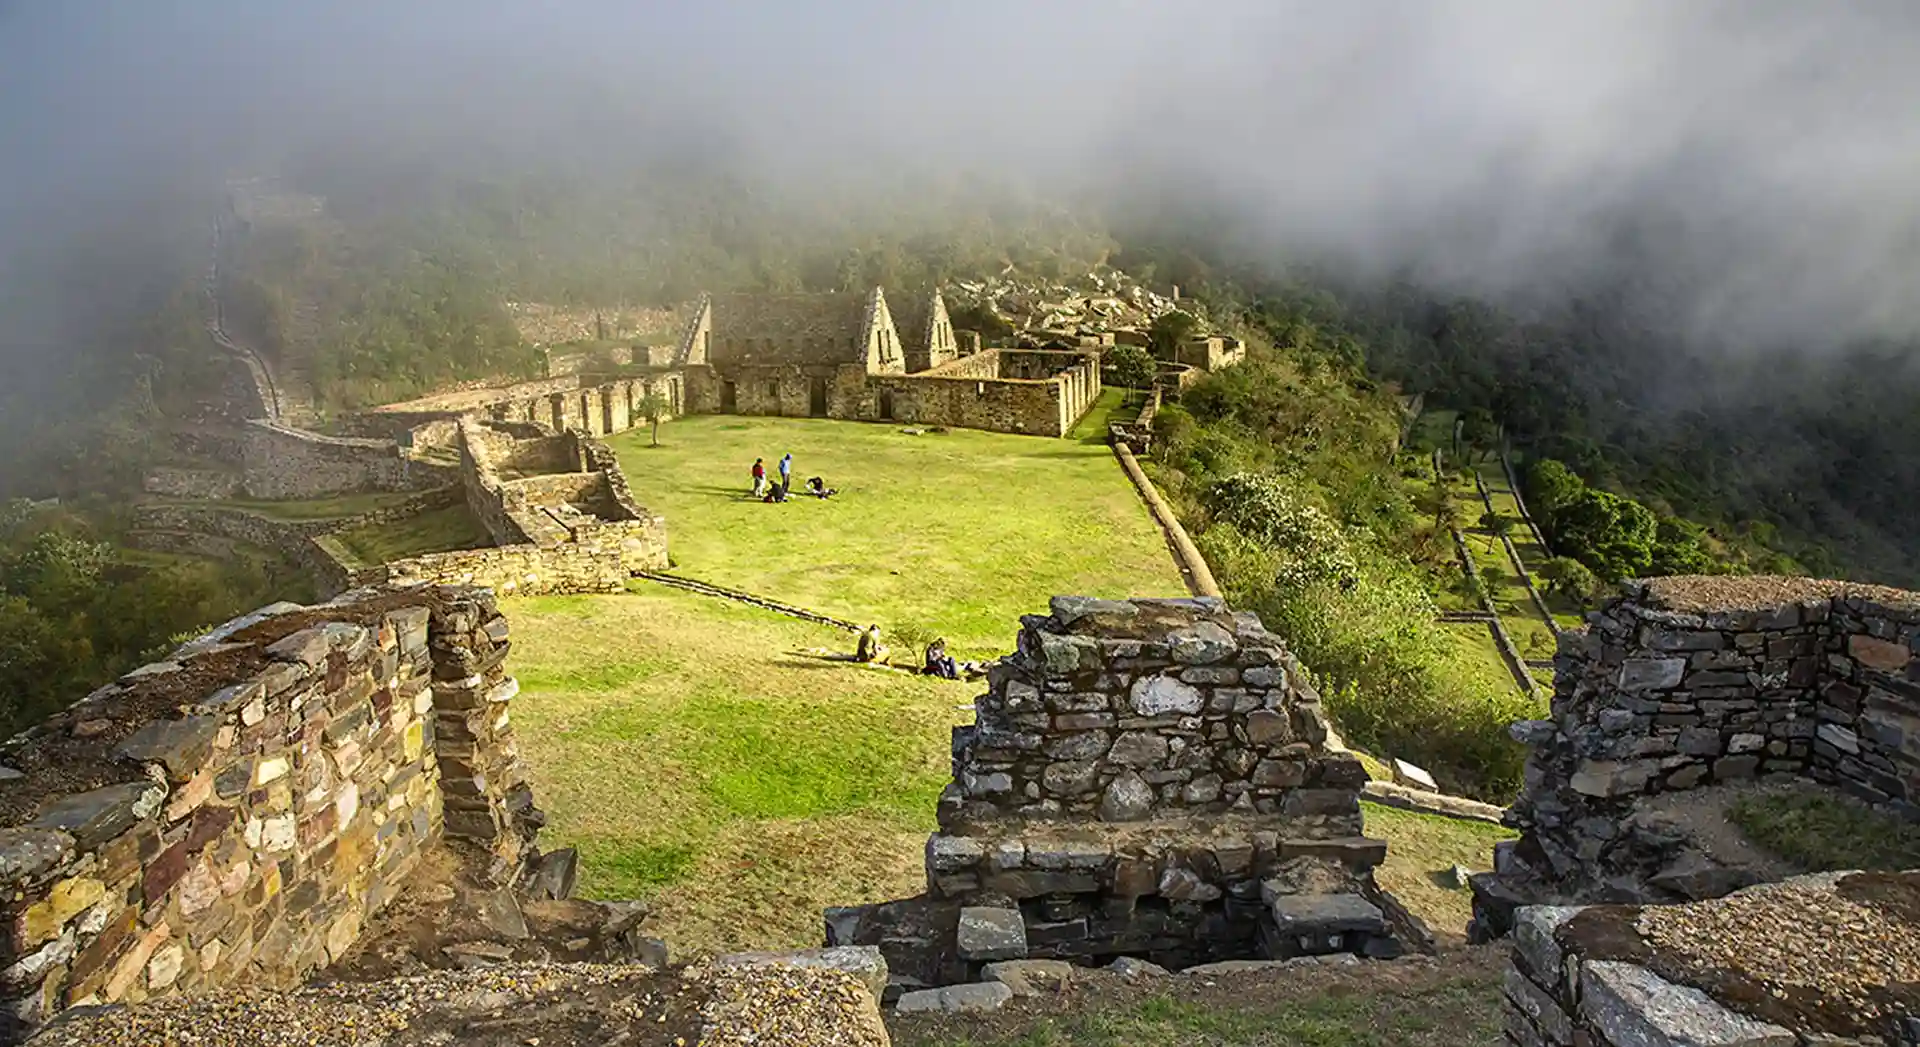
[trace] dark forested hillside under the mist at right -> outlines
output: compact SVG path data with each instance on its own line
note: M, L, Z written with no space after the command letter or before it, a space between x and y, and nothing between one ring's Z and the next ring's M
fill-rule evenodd
M1699 524L1709 557L1695 569L1920 584L1916 344L1716 342L1690 330L1684 288L1645 286L1632 257L1592 284L1496 305L1254 256L1208 221L1121 238L1121 265L1150 259L1338 330L1375 380L1478 413L1524 457Z

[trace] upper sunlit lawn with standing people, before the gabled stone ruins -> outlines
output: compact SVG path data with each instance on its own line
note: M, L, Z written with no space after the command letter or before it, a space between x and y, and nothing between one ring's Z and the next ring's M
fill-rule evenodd
M636 498L666 515L674 571L883 632L939 634L962 657L1014 642L1054 594L1187 596L1165 540L1112 451L1073 440L891 425L703 415L614 436ZM749 469L793 453L764 505Z

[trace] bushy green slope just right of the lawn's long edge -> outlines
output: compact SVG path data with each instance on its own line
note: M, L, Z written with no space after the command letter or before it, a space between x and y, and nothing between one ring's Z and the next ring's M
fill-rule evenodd
M1235 605L1260 611L1363 749L1492 799L1519 786L1505 726L1538 713L1498 661L1436 621L1446 536L1396 451L1402 405L1352 342L1256 311L1240 367L1156 421L1152 475Z

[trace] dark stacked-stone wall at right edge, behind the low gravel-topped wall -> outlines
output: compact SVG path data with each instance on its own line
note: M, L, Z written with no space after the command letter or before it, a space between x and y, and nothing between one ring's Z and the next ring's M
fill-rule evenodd
M1551 720L1475 882L1484 934L1523 901L1724 893L1695 853L1630 820L1636 801L1809 778L1920 818L1920 596L1811 578L1653 578L1563 632Z

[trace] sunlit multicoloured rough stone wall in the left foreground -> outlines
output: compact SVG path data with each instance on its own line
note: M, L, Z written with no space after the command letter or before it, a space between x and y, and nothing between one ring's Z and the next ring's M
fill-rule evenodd
M516 863L507 621L480 590L273 605L0 745L4 1020L338 959L442 834Z

